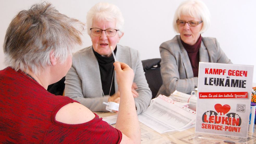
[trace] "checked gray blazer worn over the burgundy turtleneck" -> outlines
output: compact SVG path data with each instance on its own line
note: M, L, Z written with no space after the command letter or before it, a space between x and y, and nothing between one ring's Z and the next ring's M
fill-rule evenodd
M197 86L198 77L194 77L189 56L183 47L180 35L160 45L161 76L163 84L158 94L169 96L175 90L190 93ZM199 61L232 64L221 50L216 38L202 37L199 49Z

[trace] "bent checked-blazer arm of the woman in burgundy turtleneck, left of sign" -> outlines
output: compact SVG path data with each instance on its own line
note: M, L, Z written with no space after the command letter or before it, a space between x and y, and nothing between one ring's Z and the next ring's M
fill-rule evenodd
M160 46L161 55L161 76L167 96L175 90L190 93L197 86L198 77L180 79L180 73L186 77L186 71L183 65L181 54L175 55L175 50L170 44L162 44ZM179 67L180 68L179 70ZM180 72L179 72L180 71Z

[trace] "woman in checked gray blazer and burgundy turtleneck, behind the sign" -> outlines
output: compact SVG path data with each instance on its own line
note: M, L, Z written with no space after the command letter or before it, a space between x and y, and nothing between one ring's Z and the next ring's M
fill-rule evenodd
M175 90L190 93L197 87L199 61L231 64L216 38L202 37L209 27L209 10L197 0L179 5L173 28L180 35L160 45L163 85L159 94L169 96Z

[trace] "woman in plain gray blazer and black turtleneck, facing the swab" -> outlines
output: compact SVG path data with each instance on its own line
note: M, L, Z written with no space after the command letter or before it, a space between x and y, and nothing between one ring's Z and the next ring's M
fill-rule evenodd
M88 11L86 19L92 46L73 55L72 66L66 75L65 96L79 101L91 111L106 111L103 102L119 103L112 46L117 61L128 64L134 71L134 109L140 114L148 107L152 93L138 51L117 45L124 34L120 9L113 4L98 3Z

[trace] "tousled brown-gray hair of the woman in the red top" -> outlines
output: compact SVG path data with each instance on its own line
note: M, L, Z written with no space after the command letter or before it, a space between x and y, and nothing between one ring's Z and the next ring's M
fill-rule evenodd
M60 14L50 3L34 4L11 21L4 40L5 64L40 74L51 65L50 52L63 64L76 45L84 24Z

